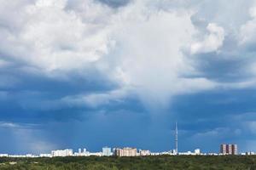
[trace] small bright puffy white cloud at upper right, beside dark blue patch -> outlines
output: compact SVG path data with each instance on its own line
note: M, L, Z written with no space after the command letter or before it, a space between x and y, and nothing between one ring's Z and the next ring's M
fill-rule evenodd
M209 53L218 50L224 42L224 28L215 23L207 26L209 34L200 42L191 44L191 54Z

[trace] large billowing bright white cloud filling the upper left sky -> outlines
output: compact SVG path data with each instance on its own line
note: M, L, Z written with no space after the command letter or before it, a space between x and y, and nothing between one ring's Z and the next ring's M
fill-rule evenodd
M83 68L107 54L107 26L84 22L75 11L65 10L66 5L64 0L38 0L21 6L17 11L21 20L18 31L3 31L1 51L42 71Z

